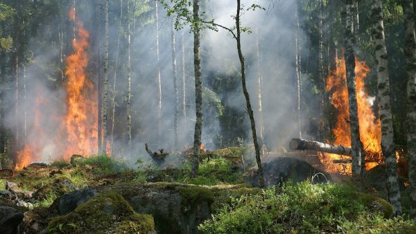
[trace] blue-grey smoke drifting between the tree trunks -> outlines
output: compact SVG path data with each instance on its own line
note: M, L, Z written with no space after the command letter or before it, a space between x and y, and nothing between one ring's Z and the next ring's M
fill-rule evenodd
M110 58L109 58L109 96L113 95L112 85L116 77L114 93L115 118L114 132L112 132L112 103L109 102L108 134L114 135L112 154L116 157L126 157L127 152L127 116L125 116L125 97L127 93L127 30L126 8L123 6L123 15L120 18L119 1L110 3ZM242 49L246 62L247 84L259 127L259 112L257 98L257 78L261 71L263 125L265 126L265 143L270 150L281 150L291 137L297 136L296 127L296 89L295 89L295 1L279 1L270 4L270 1L257 2L243 1L245 8L252 3L258 3L268 8L267 10L246 11L241 17L244 27L251 28L252 34L243 33ZM89 66L87 75L97 87L97 67L103 70L103 61L98 64L98 46L103 53L104 29L102 36L98 36L96 6L94 2L78 3L76 14L83 21L90 35ZM124 2L125 4L125 2ZM59 159L62 149L56 141L57 129L60 129L57 118L65 114L66 96L62 89L62 66L60 65L61 53L64 56L71 53L70 41L73 33L73 24L67 20L68 6L62 7L62 17L58 17L58 28L53 21L44 21L40 27L40 33L31 38L28 50L33 51L33 59L26 64L26 98L22 96L20 87L19 107L13 107L8 111L5 125L20 128L20 148L24 144L41 147L37 161L49 161ZM179 99L182 102L182 66L186 82L186 107L187 117L182 118L181 108L179 117L179 143L174 145L174 116L175 116L175 92L173 89L173 65L171 28L172 19L166 17L166 10L159 6L159 64L162 78L162 136L158 138L157 120L157 57L156 57L156 27L155 27L155 2L136 1L130 6L135 12L132 17L131 35L131 74L132 74L132 155L127 159L134 167L135 161L150 161L150 156L144 150L144 143L149 143L150 148L158 150L184 150L193 145L193 127L195 125L195 87L193 84L193 34L189 28L175 31L177 82ZM234 1L209 1L202 10L207 12L207 17L215 19L217 24L228 28L234 27L232 15L235 15L236 3ZM103 13L102 13L103 14ZM121 21L121 28L119 27ZM103 27L103 21L101 25ZM301 22L302 24L302 22ZM61 33L61 34L59 34ZM59 35L58 35L59 34ZM182 34L184 38L182 40ZM305 34L300 31L300 37ZM60 41L62 40L62 41ZM257 60L257 40L259 42L260 63ZM182 43L184 54L182 54ZM245 143L252 142L250 122L245 114L245 98L241 89L240 64L236 51L236 41L229 32L220 29L218 32L206 29L202 32L201 40L202 75L205 87L204 95L204 129L202 131L202 143L210 150L221 145L220 138L225 131L222 120L224 113L239 113L243 120L236 120L234 138L241 138ZM63 47L63 48L62 48ZM119 48L119 50L117 49ZM182 64L184 56L184 64ZM302 55L306 56L306 55ZM116 61L118 62L116 64ZM260 67L259 67L260 65ZM22 68L21 68L22 70ZM116 73L116 74L114 74ZM218 95L211 91L220 89L214 85L217 78L235 77L236 87L222 90ZM302 80L307 80L306 75ZM218 80L217 80L218 81ZM22 85L22 84L20 84ZM309 86L304 89L309 89ZM15 93L9 92L7 96L10 102L15 100ZM214 93L215 94L215 93ZM41 98L44 102L37 104ZM218 104L223 105L223 117L218 113ZM207 108L209 107L209 108ZM16 118L15 109L19 108L19 116ZM38 111L41 115L37 116ZM230 112L234 111L234 112ZM26 117L25 117L26 116ZM309 116L302 116L304 120ZM36 121L40 122L37 123ZM234 120L228 120L234 121ZM23 127L22 127L23 126ZM24 127L26 126L26 127ZM242 129L241 129L242 128ZM24 139L23 129L26 129ZM110 137L109 137L110 139ZM76 154L77 152L73 152ZM175 162L170 162L172 164Z

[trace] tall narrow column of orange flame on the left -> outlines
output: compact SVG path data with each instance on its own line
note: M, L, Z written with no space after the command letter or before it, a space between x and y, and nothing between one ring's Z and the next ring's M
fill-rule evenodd
M73 9L69 17L78 26L78 39L73 39L74 53L67 57L68 80L67 114L64 116L67 147L63 152L64 159L71 154L92 154L97 149L97 93L94 84L87 79L85 68L88 64L87 48L89 33L83 23L75 17Z

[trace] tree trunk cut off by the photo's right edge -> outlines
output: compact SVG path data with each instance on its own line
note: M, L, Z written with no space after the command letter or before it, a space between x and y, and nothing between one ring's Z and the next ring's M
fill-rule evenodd
M416 221L416 39L412 0L403 1L407 66L407 145L410 183L410 216Z

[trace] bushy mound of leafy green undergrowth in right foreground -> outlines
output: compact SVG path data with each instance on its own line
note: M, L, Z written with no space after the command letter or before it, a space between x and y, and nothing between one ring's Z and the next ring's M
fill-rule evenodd
M381 203L381 204L380 204ZM286 183L234 199L199 226L204 233L397 233L411 221L385 219L386 201L339 184ZM375 207L381 207L374 209ZM391 207L390 207L391 208ZM389 208L387 208L389 209ZM384 231L384 232L383 232Z

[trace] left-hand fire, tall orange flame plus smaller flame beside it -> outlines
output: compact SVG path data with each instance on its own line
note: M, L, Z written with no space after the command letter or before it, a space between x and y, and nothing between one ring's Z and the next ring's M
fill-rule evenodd
M33 126L31 126L31 134L37 137L31 138L24 148L17 152L15 165L17 170L42 159L42 151L45 147L42 136L45 135L44 132L48 132L41 124L45 121L56 122L53 123L57 126L57 132L53 133L55 137L49 136L55 140L53 153L56 155L54 156L69 159L72 154L89 155L97 151L98 97L94 84L87 79L85 71L88 64L89 33L83 28L83 23L76 19L74 9L69 11L69 18L77 26L78 38L73 39L74 52L67 57L67 70L65 71L67 80L64 85L67 97L64 114L52 113L48 116L43 113L42 107L49 104L45 103L46 98L42 97L42 93L38 93L39 97L35 100Z

